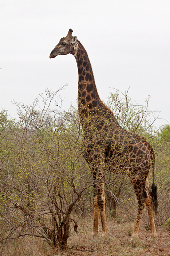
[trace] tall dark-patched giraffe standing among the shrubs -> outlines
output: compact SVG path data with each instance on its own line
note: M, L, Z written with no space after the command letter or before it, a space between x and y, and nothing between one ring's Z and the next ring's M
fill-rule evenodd
M142 212L147 207L151 237L157 237L153 209L157 211L157 186L154 184L154 151L146 139L120 127L114 113L101 101L87 52L72 29L60 39L50 53L50 59L71 53L78 67L78 111L84 131L83 156L88 162L93 178L94 221L93 236L98 234L98 216L102 223L102 237L107 237L104 197L104 174L126 172L134 187L138 212L132 238L138 237ZM149 186L152 165L153 184Z

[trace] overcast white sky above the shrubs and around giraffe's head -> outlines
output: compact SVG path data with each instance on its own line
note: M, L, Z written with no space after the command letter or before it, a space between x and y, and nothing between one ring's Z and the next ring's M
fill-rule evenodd
M159 110L157 126L170 122L169 0L0 0L0 108L15 116L12 99L25 104L45 88L74 103L74 56L49 55L68 29L87 50L100 98L130 87L133 101ZM167 120L167 121L165 121Z

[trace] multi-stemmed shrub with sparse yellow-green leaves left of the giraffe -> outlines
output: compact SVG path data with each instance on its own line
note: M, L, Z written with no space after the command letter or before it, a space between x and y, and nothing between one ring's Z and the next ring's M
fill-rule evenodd
M56 93L46 90L45 97L41 95L43 109L38 99L27 106L15 102L19 119L5 137L10 154L0 163L2 247L15 238L32 236L53 249L64 249L71 230L78 232L82 211L75 219L72 210L92 182L87 180L91 176L81 153L82 130L76 113L61 118L61 113L49 110ZM50 113L55 113L55 119Z

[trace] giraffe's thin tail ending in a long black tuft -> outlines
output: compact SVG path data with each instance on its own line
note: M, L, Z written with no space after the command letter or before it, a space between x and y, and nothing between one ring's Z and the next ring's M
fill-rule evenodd
M154 171L155 171L155 155L153 152L152 155L152 177L153 177L153 184L152 184L152 205L153 205L153 210L155 212L155 215L157 216L158 213L158 195L157 195L157 186L155 185L154 182Z

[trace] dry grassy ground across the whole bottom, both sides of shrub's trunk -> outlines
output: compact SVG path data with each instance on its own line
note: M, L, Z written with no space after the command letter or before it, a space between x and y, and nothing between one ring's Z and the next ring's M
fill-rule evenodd
M119 222L119 223L118 223ZM68 239L66 251L52 250L45 242L34 238L24 238L13 241L7 246L3 256L170 256L170 234L164 227L157 227L158 238L150 240L150 231L145 229L141 223L139 238L130 242L133 231L132 222L121 222L112 220L107 222L108 238L101 237L101 226L99 234L91 237L92 220L82 219L79 223L80 234L73 233ZM162 249L162 251L160 251Z

